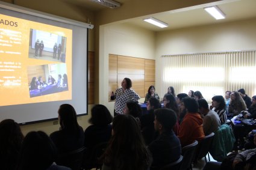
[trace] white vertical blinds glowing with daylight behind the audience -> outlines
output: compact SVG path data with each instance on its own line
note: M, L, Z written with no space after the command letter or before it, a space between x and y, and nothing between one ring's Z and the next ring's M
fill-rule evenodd
M170 86L176 94L201 91L208 102L240 88L249 97L256 95L255 50L163 55L161 68L161 96Z

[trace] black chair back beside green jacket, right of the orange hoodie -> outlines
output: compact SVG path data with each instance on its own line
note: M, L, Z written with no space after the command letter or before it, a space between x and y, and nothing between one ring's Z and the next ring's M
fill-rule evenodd
M195 161L205 158L205 163L207 163L206 156L208 154L208 160L210 161L209 151L211 148L211 143L213 142L214 133L212 132L210 135L207 135L202 139L202 141L198 144L196 148Z

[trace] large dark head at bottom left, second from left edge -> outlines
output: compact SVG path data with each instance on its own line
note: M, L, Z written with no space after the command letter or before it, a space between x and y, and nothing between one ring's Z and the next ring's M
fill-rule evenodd
M20 150L19 170L45 170L57 159L57 150L49 136L42 131L29 132Z

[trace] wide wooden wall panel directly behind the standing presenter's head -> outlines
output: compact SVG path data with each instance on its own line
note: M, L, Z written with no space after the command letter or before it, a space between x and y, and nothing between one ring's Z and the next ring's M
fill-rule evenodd
M117 87L121 86L122 80L128 77L131 79L131 82L133 82L132 89L136 91L137 94L139 94L140 97L144 97L144 83L145 78L143 74L117 74Z

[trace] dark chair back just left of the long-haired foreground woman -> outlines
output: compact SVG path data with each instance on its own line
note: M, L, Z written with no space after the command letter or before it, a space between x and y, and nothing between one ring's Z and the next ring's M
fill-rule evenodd
M99 157L102 156L105 149L108 146L108 142L101 142L93 147L91 154L85 154L83 168L87 169L101 169L102 163L99 162Z

